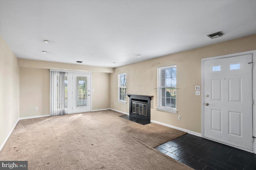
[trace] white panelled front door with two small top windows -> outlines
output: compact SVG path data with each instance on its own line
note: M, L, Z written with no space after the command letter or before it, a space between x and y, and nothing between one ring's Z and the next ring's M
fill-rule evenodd
M253 150L251 62L252 54L204 61L204 137Z

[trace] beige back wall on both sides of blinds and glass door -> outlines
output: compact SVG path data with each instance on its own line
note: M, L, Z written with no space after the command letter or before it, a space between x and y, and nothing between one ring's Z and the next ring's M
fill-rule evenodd
M109 73L93 72L92 110L109 108L109 81ZM49 69L20 67L20 117L50 115L49 93Z

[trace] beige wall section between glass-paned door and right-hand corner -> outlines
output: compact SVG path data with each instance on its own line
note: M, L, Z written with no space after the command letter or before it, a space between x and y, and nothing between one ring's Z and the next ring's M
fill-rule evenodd
M110 74L93 72L92 74L92 110L109 108Z

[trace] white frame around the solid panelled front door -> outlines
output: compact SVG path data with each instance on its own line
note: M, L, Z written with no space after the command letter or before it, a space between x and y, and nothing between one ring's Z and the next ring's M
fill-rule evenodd
M245 51L245 52L241 52L241 53L234 53L234 54L228 54L228 55L221 55L221 56L216 56L216 57L209 57L209 58L204 58L201 59L201 73L202 73L202 77L201 77L201 84L202 84L202 102L201 102L201 135L203 138L204 137L204 61L207 60L213 60L213 59L224 59L224 58L228 58L228 57L236 57L236 56L240 56L240 55L248 55L248 54L252 54L252 62L253 62L253 68L252 68L252 98L254 100L254 104L252 105L252 115L253 115L253 120L252 120L252 131L253 131L253 136L256 137L256 50L252 50L252 51ZM208 138L206 138L208 139ZM212 140L212 139L210 139ZM212 140L214 141L214 140ZM221 143L220 141L218 141L219 143ZM223 143L225 145L229 145L232 147L236 147L227 143ZM242 150L246 150L243 148L239 148L236 147L238 149L242 149ZM246 150L248 152L252 152L252 150ZM253 152L256 154L256 139L254 139L254 143L253 143Z

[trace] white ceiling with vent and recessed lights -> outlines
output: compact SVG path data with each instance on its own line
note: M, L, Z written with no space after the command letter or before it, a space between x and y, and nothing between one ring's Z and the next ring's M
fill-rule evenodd
M256 0L0 0L0 35L19 58L117 67L254 34L255 9Z

